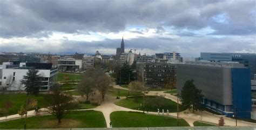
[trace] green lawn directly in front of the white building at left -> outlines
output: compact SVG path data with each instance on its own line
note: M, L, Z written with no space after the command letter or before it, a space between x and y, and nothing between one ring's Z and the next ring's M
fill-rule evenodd
M36 99L37 104L40 108L43 108L47 105L46 100L44 99L46 94L39 94L35 96L29 96L29 99ZM0 95L0 108L3 108L5 101L11 101L12 107L10 108L8 115L17 114L21 106L26 102L26 94L1 94ZM0 117L3 117L3 114L0 114Z

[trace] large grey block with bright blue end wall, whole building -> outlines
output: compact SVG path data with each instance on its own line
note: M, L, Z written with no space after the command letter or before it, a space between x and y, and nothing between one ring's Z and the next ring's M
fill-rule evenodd
M243 64L210 61L188 61L177 64L177 93L187 80L204 94L203 104L214 111L232 117L251 118L250 69Z

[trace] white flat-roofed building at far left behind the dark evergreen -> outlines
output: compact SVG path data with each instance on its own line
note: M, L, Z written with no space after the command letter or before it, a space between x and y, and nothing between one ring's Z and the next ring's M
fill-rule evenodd
M7 91L24 90L24 85L21 84L21 79L26 75L29 69L35 68L39 70L38 74L43 77L43 86L41 91L50 90L51 86L57 81L58 69L52 69L51 63L4 63L0 66L1 86Z

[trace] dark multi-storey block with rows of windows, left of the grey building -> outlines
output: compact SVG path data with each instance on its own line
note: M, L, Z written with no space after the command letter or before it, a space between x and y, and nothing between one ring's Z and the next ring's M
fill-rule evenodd
M137 80L146 87L163 88L170 78L176 84L176 64L137 62L136 66Z

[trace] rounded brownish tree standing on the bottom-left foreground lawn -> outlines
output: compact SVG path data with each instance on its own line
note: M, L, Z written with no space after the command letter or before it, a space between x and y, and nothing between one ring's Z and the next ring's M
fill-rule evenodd
M68 114L76 105L71 95L66 95L60 90L60 84L58 83L55 83L52 86L51 94L45 97L45 99L49 103L49 107L46 112L55 115L59 123L61 122L61 119L65 117L65 115Z

